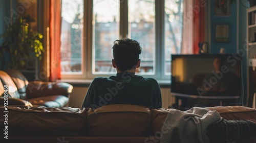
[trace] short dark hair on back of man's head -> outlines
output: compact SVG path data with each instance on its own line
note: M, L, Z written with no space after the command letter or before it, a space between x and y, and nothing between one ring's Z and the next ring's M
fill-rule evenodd
M119 39L114 41L113 56L120 71L135 68L142 51L140 43L133 39Z

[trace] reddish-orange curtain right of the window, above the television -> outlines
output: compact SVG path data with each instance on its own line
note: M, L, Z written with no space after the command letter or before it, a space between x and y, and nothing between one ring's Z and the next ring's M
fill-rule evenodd
M181 54L199 53L198 43L204 41L205 7L204 0L184 1Z

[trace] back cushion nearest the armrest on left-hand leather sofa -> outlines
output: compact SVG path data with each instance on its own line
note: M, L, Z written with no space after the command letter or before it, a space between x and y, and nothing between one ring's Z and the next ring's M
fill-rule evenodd
M6 73L11 76L13 82L15 83L20 99L27 99L26 88L29 82L26 77L20 73L20 71L15 69L9 69L6 71Z

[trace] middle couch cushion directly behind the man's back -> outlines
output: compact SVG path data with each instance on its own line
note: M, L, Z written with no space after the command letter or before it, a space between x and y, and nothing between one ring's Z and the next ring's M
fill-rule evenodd
M151 111L137 105L106 105L88 111L89 136L146 136Z

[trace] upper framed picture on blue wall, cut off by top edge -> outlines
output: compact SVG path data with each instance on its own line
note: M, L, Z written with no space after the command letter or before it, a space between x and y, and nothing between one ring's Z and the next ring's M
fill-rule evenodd
M214 2L215 16L230 16L230 0L215 0Z

